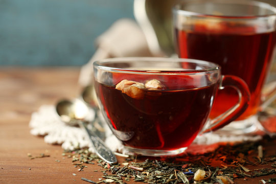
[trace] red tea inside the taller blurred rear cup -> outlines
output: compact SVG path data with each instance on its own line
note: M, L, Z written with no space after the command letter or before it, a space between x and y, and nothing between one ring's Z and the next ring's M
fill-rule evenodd
M219 64L223 75L235 75L248 85L251 100L249 107L238 120L255 114L260 105L261 90L270 66L275 47L274 32L254 32L252 27L228 27L210 30L196 25L194 31L176 29L178 54L181 58L200 59ZM238 34L239 32L240 34ZM211 118L216 117L238 101L232 88L220 90L216 96Z

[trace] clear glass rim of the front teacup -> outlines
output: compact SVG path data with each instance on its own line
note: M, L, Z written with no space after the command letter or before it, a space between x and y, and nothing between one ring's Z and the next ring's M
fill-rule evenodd
M194 63L201 64L204 66L210 66L205 69L188 69L188 70L144 70L144 69L134 69L134 68L124 68L124 67L113 67L104 66L107 63L130 63L130 62L179 62L179 63ZM220 72L221 67L210 61L203 61L198 59L188 59L188 58L167 58L167 57L117 57L117 58L106 58L97 60L93 63L94 68L99 68L104 71L110 72L120 72L120 73L132 73L132 74L144 74L144 75L193 75L193 74L204 74L212 72Z

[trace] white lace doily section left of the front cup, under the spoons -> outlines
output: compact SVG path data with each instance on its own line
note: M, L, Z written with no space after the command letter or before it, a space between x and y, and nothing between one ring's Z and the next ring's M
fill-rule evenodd
M31 134L44 136L45 143L61 144L65 150L91 147L86 133L79 127L68 126L60 120L56 113L55 106L42 105L37 112L34 112L30 121ZM112 135L111 131L105 128L106 145L112 151L122 151L123 145ZM93 148L90 148L94 152Z

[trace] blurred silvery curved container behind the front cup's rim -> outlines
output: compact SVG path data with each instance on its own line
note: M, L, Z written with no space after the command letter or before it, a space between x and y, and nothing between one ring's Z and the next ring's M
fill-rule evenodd
M134 16L145 33L154 55L174 52L172 33L172 7L178 0L134 0Z

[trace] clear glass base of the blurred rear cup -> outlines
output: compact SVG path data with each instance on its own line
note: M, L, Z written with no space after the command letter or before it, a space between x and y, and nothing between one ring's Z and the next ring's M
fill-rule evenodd
M251 116L245 120L234 121L224 126L223 128L215 131L215 133L242 135L250 134L257 131L259 124L258 116Z

